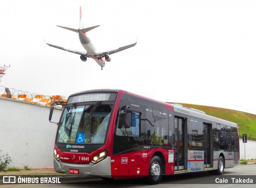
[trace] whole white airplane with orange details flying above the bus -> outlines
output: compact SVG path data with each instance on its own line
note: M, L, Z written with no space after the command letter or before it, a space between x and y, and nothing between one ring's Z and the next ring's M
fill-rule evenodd
M100 26L100 25L98 25L98 26ZM127 46L122 46L122 47L116 48L114 50L109 50L109 51L97 53L96 48L94 47L94 45L92 44L90 38L87 36L86 33L90 30L93 30L93 29L97 28L98 26L92 26L92 27L89 27L89 28L84 28L83 18L82 18L82 9L81 9L81 6L80 6L80 28L72 29L72 28L67 28L67 27L63 27L63 26L58 26L58 27L78 33L80 42L81 42L82 46L84 47L84 49L86 50L86 52L81 52L81 51L78 51L78 50L63 48L63 47L60 47L60 46L55 46L53 44L48 44L48 43L46 43L46 44L48 44L51 47L58 48L60 50L65 50L67 52L72 52L72 53L75 53L75 54L79 54L80 59L83 62L86 62L87 58L92 58L98 63L99 66L101 66L101 70L105 66L106 61L110 62L111 58L110 58L109 55L114 54L116 52L120 52L122 50L126 50L126 49L131 48L131 47L133 47L137 44L137 41L136 41L135 43L129 44Z

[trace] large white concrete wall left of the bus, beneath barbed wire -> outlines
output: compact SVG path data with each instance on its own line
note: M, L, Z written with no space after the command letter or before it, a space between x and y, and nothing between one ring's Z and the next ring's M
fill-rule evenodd
M50 123L50 108L0 97L0 155L8 154L9 166L53 168L56 124ZM62 110L54 109L58 122Z

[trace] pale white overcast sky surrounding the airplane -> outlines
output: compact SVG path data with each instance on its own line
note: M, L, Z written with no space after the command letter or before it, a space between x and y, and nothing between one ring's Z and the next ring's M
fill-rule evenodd
M92 59L52 48L84 51L84 27L103 70ZM1 85L44 95L123 89L165 102L230 108L256 114L255 0L1 0L0 64L11 65Z

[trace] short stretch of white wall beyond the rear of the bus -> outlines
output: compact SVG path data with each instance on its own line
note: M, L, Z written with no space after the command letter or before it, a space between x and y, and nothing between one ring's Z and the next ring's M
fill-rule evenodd
M239 146L240 146L240 160L244 158L244 143L242 139L239 139ZM248 159L256 159L256 141L247 140L245 143L245 157L246 160Z

